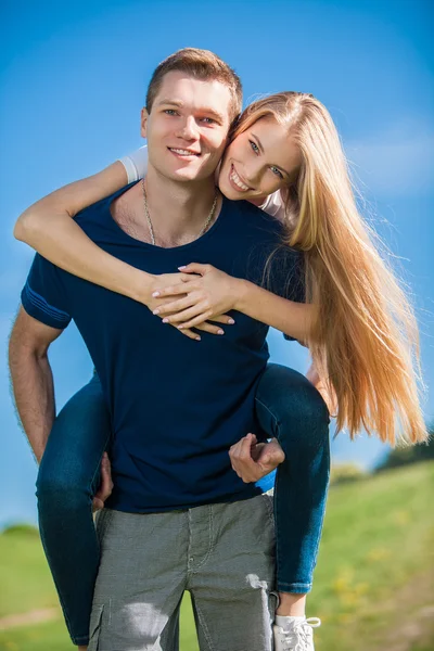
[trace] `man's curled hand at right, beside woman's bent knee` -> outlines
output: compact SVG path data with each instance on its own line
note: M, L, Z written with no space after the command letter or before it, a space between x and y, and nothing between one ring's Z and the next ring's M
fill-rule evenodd
M257 443L254 434L247 434L232 445L229 457L232 469L246 484L257 482L285 459L277 438L270 443Z

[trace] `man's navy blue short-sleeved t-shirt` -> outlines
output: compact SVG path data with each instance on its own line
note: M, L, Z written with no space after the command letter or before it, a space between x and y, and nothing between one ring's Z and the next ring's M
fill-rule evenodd
M117 258L150 273L208 263L294 301L303 299L303 257L280 247L281 226L246 202L224 200L213 227L174 248L124 232L111 204L126 189L76 217ZM273 253L275 252L275 253ZM271 255L271 258L269 259ZM228 451L247 432L260 434L255 392L268 359L268 327L233 312L224 336L180 334L140 303L35 257L22 292L25 310L64 329L74 319L101 380L113 426L114 490L106 502L128 512L177 510L253 497Z

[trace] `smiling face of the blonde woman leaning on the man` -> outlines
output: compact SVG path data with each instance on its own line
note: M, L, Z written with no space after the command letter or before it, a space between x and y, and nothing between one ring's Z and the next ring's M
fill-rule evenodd
M218 186L228 199L260 204L268 194L294 181L301 163L288 128L272 117L263 117L227 148Z

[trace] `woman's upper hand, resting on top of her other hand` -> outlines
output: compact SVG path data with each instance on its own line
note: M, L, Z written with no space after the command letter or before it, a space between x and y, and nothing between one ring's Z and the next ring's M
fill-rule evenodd
M177 301L170 299L153 310L154 315L164 317L164 323L171 323L182 331L197 328L206 320L218 321L221 315L234 309L241 282L238 278L232 278L212 265L192 263L179 269L182 277L191 275L190 280L182 280L180 284L166 289L158 286L152 294L158 298L178 296ZM234 320L227 317L226 322L232 324Z

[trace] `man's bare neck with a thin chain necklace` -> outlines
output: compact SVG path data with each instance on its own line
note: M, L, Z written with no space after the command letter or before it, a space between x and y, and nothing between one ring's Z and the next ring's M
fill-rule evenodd
M150 167L145 190L151 224L159 246L178 246L200 235L216 194L214 176L201 181L179 182L163 177ZM145 219L143 196L136 194L136 201L141 202L139 215ZM219 209L220 202L212 224Z

